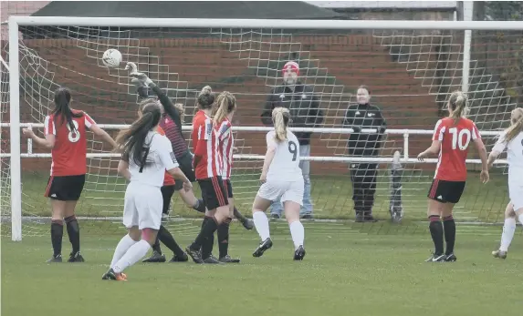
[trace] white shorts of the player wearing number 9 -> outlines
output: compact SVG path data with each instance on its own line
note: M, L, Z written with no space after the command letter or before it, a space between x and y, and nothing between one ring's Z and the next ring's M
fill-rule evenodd
M290 200L303 206L303 189L303 178L295 181L267 179L267 182L258 189L257 195L271 201L281 199L282 204Z

